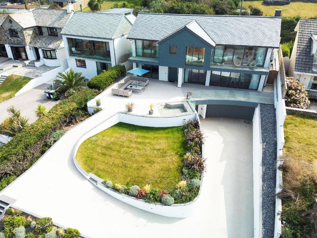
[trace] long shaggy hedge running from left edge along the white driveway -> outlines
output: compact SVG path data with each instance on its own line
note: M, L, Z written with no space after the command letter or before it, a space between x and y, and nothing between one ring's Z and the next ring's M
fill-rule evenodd
M61 125L68 122L69 118L82 115L84 112L81 109L85 108L86 102L98 93L93 89L83 89L75 92L74 95L58 102L49 110L46 116L33 122L29 127L14 136L10 142L0 147L0 173L10 173L5 171L3 164L12 159L20 160L28 157L34 162L34 160L41 157L43 150L48 149L43 148L46 146L44 138L61 128ZM19 175L14 172L11 172L11 174Z

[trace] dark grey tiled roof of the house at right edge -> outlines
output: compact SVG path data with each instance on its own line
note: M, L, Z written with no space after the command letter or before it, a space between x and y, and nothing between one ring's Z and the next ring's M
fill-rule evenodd
M300 19L298 28L298 43L295 59L295 72L312 73L313 71L313 58L311 54L313 34L317 34L317 20L314 19Z

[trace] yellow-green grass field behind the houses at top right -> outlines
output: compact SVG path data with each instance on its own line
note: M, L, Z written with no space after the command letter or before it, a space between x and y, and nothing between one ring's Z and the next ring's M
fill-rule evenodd
M288 5L265 5L263 1L244 1L243 6L248 7L252 5L259 7L265 16L274 16L275 9L282 10L283 17L293 17L300 15L302 18L314 17L317 15L317 3L308 2L293 2Z

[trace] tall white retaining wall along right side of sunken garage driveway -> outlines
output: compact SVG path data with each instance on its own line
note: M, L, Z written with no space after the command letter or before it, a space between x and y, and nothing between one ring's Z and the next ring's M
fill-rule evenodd
M262 134L260 104L258 104L254 111L252 130L254 238L260 238L262 236Z

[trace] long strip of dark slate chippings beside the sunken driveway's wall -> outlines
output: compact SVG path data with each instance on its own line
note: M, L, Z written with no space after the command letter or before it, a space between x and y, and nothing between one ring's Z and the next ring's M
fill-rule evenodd
M262 134L262 238L273 238L277 157L274 105L261 103L260 115Z

